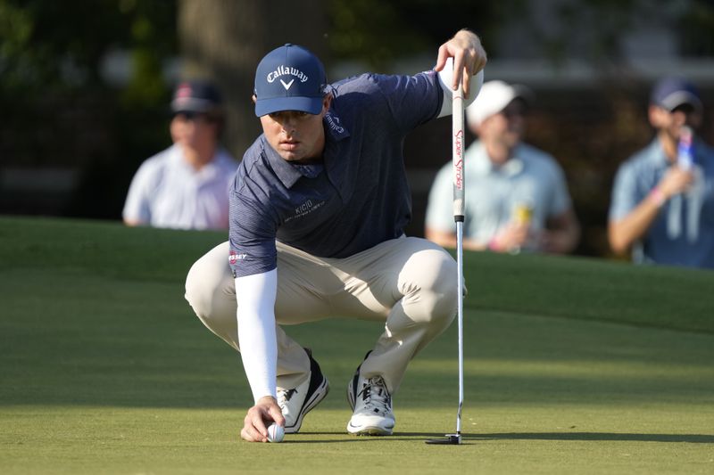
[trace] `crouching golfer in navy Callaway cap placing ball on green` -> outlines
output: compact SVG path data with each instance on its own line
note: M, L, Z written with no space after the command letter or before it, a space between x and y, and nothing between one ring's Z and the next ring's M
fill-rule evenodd
M270 422L297 432L328 394L320 365L284 325L337 315L384 328L348 381L347 431L392 434L392 397L407 365L452 322L461 291L444 249L404 236L403 140L450 115L457 86L473 97L485 64L480 40L465 29L439 48L434 70L413 76L328 84L321 61L290 44L258 64L253 101L263 133L231 189L229 240L196 261L186 281L196 315L241 353L254 401L245 440L266 442Z

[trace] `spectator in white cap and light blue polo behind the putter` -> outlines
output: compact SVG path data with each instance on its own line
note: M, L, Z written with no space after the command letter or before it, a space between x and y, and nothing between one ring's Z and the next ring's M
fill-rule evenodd
M478 136L464 155L467 250L572 251L580 226L562 169L551 155L522 143L527 92L502 81L484 84L466 110ZM452 164L436 175L429 193L426 237L456 246Z

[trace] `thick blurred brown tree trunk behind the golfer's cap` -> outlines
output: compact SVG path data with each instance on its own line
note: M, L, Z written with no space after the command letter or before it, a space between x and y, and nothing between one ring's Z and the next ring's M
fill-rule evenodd
M183 74L211 77L219 84L228 105L224 142L238 159L260 132L251 95L262 56L291 42L327 61L326 37L321 0L179 0Z

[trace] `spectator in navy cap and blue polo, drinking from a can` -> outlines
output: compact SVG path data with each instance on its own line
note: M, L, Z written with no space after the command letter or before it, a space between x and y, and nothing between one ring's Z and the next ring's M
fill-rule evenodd
M700 94L683 78L660 79L648 114L654 140L615 177L610 246L637 263L714 268L714 150L693 134Z

